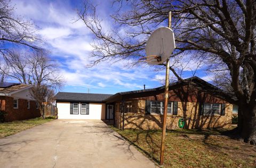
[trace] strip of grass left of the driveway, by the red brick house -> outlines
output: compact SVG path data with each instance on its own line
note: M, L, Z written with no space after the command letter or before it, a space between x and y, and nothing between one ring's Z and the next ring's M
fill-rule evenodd
M36 125L40 125L52 120L53 117L46 117L46 119L44 120L41 117L38 117L29 120L0 123L0 138L13 135L14 133L21 132L23 130L35 127Z

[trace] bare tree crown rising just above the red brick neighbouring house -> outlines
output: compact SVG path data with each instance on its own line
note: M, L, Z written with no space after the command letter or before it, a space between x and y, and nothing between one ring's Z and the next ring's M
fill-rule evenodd
M0 72L23 84L45 85L58 89L63 82L58 65L49 57L47 51L10 51L4 56ZM7 68L6 68L7 66Z

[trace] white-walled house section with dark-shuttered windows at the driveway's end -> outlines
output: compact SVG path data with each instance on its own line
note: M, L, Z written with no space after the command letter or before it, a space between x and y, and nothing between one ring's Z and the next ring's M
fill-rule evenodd
M108 94L83 94L59 92L56 96L58 119L114 119L114 111L106 114ZM113 107L114 110L114 107Z

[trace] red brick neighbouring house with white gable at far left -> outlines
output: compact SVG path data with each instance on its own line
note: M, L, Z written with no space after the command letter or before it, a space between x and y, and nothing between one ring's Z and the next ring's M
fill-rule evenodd
M2 121L26 120L41 116L31 96L34 85L0 82L0 118Z

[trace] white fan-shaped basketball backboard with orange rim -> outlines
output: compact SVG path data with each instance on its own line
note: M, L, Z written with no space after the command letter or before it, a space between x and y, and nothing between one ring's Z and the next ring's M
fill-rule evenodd
M156 29L149 37L146 45L146 55L148 64L162 64L169 58L175 49L174 33L168 27ZM154 58L161 56L161 61Z

